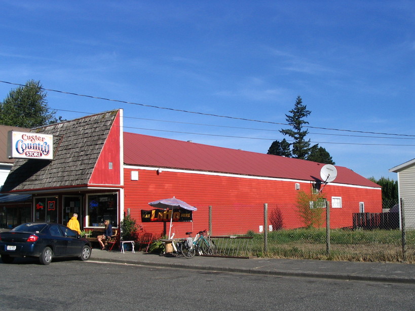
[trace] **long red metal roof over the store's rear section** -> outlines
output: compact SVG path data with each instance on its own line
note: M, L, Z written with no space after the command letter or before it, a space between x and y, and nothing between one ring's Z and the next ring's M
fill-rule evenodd
M324 166L278 155L127 132L124 132L124 163L294 180L320 180L320 169ZM335 183L380 187L346 167L335 167Z

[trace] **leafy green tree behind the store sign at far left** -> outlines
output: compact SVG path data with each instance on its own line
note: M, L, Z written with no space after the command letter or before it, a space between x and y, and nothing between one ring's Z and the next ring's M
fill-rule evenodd
M34 128L62 121L55 118L55 111L49 112L46 97L40 81L27 81L0 103L0 124Z

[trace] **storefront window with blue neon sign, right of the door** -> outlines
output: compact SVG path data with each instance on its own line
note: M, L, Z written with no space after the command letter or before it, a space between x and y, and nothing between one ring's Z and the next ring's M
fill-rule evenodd
M118 199L116 193L105 195L89 195L87 209L87 225L103 227L104 220L109 219L113 227L118 227Z

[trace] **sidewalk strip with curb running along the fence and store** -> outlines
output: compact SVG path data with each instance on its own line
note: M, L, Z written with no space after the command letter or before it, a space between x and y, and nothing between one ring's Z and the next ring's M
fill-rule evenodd
M205 256L187 259L142 252L107 252L99 249L93 249L90 260L274 276L415 284L415 265L406 263L274 258L239 259Z

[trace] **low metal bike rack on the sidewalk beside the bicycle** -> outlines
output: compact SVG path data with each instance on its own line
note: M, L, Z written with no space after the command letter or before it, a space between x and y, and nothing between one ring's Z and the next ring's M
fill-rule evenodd
M253 237L225 237L211 236L214 243L212 254L209 257L252 258Z

